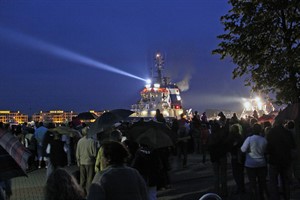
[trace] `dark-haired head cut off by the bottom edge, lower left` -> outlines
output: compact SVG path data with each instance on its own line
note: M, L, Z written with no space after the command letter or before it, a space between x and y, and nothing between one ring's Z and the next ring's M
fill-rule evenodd
M45 200L82 200L84 191L65 169L54 170L47 179Z

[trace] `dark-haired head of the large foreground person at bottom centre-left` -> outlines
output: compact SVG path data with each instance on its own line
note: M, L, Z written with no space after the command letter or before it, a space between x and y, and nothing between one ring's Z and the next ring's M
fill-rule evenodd
M129 158L128 149L117 141L104 141L100 147L101 169L110 165L123 165Z

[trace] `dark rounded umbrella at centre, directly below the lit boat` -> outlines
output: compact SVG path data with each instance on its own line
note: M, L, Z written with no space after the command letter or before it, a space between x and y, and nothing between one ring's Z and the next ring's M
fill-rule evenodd
M128 130L128 138L152 149L173 146L177 135L164 123L137 122Z

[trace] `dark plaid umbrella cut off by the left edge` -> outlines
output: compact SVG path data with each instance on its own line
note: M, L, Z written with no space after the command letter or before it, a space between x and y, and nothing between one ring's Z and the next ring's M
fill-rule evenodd
M11 133L0 129L0 179L27 176L27 160L31 153Z

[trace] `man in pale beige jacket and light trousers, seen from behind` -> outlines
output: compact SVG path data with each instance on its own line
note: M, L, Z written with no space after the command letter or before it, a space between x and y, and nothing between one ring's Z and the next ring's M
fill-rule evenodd
M78 141L76 148L77 165L80 171L80 186L86 194L94 178L94 166L97 156L96 141L92 138L87 138L87 130L87 127L82 129L83 137Z

